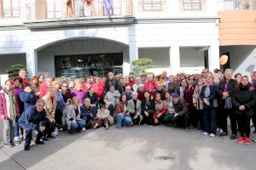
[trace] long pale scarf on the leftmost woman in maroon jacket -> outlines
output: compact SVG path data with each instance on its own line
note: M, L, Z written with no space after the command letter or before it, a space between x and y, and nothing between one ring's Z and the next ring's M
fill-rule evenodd
M5 94L7 94L8 99L9 99L9 101L7 101L7 104L9 104L9 105L7 105L7 107L9 107L9 108L7 108L9 110L8 111L9 119L12 120L12 121L15 121L15 113L16 113L16 110L15 110L15 101L16 101L15 95L11 91L7 90L6 88L3 89L3 91L4 91Z

